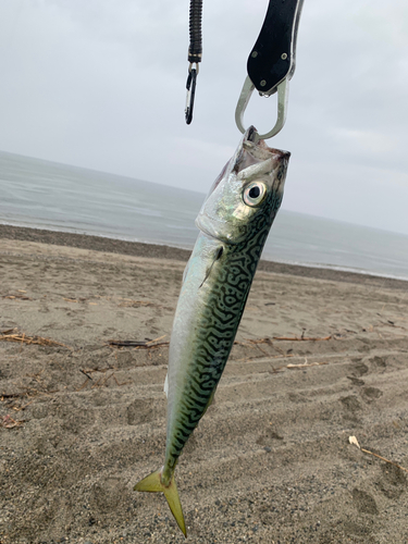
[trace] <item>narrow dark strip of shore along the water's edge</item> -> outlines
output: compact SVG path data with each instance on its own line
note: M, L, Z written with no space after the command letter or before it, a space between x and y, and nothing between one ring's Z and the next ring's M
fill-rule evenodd
M190 256L189 249L182 249L168 245L157 245L141 242L129 242L89 234L69 233L63 231L48 231L27 226L0 224L0 239L37 242L55 246L75 247L94 251L103 251L134 257L154 259L172 259L186 262ZM408 288L408 280L386 277L371 273L348 272L324 267L289 264L284 262L267 261L261 259L259 271L279 274L290 274L301 277L364 284L392 289Z

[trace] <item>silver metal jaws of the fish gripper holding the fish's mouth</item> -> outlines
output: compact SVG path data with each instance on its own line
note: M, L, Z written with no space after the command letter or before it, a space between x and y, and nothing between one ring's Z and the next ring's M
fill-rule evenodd
M255 85L250 81L249 76L246 77L244 82L243 90L240 91L238 103L236 104L235 110L235 123L239 131L244 134L246 128L244 126L244 113L247 109L249 99L254 92ZM289 82L285 77L276 87L277 90L277 120L269 133L259 134L258 139L268 139L275 136L280 131L282 131L283 125L286 121L286 111L287 111L287 99L289 96Z

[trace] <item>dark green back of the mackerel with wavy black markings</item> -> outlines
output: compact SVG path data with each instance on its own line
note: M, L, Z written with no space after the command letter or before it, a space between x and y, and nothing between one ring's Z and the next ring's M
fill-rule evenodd
M281 206L282 194L272 191L269 200L264 213L250 225L249 239L235 246L220 242L223 255L220 265L206 280L211 288L193 338L195 364L188 372L188 384L184 387L173 432L168 435L165 466L169 468L175 467L225 368L263 245Z

